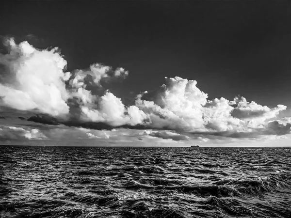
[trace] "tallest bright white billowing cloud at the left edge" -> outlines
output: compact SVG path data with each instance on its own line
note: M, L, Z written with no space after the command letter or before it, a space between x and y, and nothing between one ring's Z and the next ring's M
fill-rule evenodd
M66 61L58 48L38 50L27 42L6 42L9 53L0 54L0 97L6 106L19 110L36 109L53 116L68 113L63 69Z

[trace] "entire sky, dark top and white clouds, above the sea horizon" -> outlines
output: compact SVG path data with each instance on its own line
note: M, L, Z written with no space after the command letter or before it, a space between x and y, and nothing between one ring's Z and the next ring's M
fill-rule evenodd
M0 144L290 146L290 0L3 0L0 20Z

